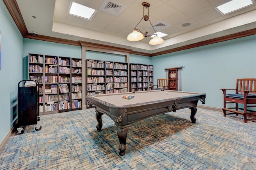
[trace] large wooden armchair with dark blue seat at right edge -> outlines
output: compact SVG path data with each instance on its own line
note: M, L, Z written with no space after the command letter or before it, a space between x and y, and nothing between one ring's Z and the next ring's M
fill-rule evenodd
M256 79L237 79L236 89L221 90L223 91L224 98L224 108L222 108L224 116L230 114L241 114L244 115L245 123L247 123L247 121L256 120L256 109L253 109L256 108ZM236 90L236 93L226 94L226 90ZM233 103L233 105L235 104L235 107L226 107L226 104L230 103ZM232 113L226 113L226 111Z

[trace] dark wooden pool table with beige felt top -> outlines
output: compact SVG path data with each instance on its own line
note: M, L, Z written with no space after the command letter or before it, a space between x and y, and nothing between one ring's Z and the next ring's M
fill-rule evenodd
M134 96L125 99L122 96ZM198 100L205 102L205 93L192 93L172 90L152 90L128 93L112 93L86 96L90 105L96 109L97 131L102 128L102 115L108 115L115 123L119 138L119 155L126 150L126 137L132 123L167 112L176 112L178 109L189 108L190 119L196 123L196 106Z

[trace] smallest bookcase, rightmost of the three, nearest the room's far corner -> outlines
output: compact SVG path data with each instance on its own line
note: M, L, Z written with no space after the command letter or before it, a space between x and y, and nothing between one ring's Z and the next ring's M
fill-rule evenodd
M153 90L153 65L130 63L130 90Z

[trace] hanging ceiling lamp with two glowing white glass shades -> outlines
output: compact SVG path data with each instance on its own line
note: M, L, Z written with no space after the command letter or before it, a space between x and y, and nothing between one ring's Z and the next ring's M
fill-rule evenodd
M150 22L150 19L149 19L149 7L150 7L150 4L148 4L147 2L142 2L142 6L143 6L143 17L141 18L141 20L139 21L138 24L140 24L140 22L142 21L142 19L144 19L145 21L149 21ZM148 15L144 15L144 10L145 9L148 9ZM128 36L127 36L127 40L128 41L132 41L132 42L136 42L136 41L140 41L140 40L143 40L143 38L148 38L148 37L151 37L152 35L149 35L148 32L146 33L143 33L142 31L138 30L136 27L138 26L138 24L135 26L134 30L132 33L130 33ZM152 40L150 40L149 44L150 45L157 45L157 44L161 44L164 42L164 40L162 38L159 38L157 35L156 35L156 30L154 29L153 25L151 24L150 22L150 25L152 26L153 30L154 30L154 38Z

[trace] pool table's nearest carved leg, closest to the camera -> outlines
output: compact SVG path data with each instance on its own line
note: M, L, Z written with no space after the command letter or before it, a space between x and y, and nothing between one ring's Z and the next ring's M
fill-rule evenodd
M123 156L126 150L126 137L131 125L118 126L119 123L116 123L116 130L119 139L119 155Z

